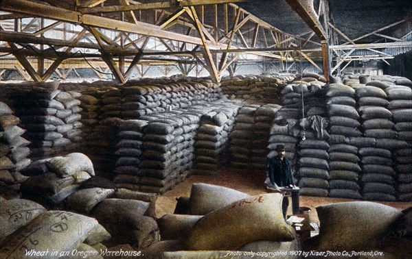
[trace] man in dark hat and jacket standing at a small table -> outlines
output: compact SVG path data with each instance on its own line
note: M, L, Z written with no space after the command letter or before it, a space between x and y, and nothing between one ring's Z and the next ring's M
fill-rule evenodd
M295 182L293 180L290 161L288 158L285 158L285 146L277 145L275 151L277 151L277 156L271 158L268 164L268 177L271 181L271 185L268 186L268 188L282 193L282 190L280 190L279 187L293 188L295 187ZM289 200L285 197L282 204L282 211L285 218L288 206Z

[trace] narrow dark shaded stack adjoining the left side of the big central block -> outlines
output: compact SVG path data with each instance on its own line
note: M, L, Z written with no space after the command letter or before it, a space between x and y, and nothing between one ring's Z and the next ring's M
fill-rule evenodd
M150 176L139 171L143 152L143 127L146 125L148 121L144 120L119 121L119 141L115 145L115 155L118 158L114 170L114 182L119 187L138 190L141 176Z

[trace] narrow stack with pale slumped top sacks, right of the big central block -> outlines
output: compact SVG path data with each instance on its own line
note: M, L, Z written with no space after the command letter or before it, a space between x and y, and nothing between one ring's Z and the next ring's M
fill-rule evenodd
M240 104L224 99L210 103L212 110L204 114L197 129L194 168L195 175L216 175L229 164L229 134Z

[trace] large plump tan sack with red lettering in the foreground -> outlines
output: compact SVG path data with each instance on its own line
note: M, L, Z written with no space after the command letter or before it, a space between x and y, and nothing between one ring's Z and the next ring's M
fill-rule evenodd
M257 240L293 240L282 200L277 193L257 195L210 212L192 228L187 249L229 250Z

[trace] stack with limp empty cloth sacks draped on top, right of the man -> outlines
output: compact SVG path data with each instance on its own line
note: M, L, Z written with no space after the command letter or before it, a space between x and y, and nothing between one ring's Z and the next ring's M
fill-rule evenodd
M304 134L299 134L297 175L300 195L328 196L329 179L329 134L328 123L321 116L310 116L301 119L299 126Z

